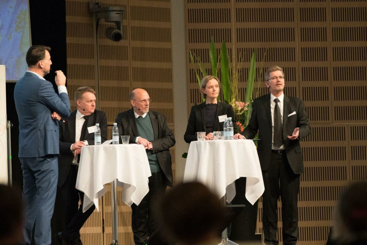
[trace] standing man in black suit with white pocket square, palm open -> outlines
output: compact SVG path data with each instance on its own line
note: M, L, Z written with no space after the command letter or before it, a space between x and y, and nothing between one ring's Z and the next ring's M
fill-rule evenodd
M265 84L270 94L252 103L250 122L242 135L254 138L259 131L258 155L264 179L262 194L262 226L265 244L278 244L277 201L282 201L283 244L296 244L298 239L299 174L303 173L299 140L310 134L305 105L296 97L286 96L283 69L271 66L265 72Z

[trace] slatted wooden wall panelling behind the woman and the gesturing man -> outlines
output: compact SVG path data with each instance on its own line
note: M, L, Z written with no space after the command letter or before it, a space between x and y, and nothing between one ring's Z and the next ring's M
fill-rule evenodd
M351 181L367 179L366 0L186 0L189 109L201 103L189 50L211 73L208 46L226 42L230 61L243 61L239 99L246 93L252 51L283 67L285 94L305 102L312 123L302 152L298 244L325 244L335 204ZM265 54L266 52L266 54ZM220 77L219 77L220 78ZM263 79L264 80L264 79ZM259 95L269 93L255 80ZM254 93L255 96L255 93ZM222 98L222 95L220 96ZM278 239L281 202L278 203ZM259 201L257 232L262 232Z

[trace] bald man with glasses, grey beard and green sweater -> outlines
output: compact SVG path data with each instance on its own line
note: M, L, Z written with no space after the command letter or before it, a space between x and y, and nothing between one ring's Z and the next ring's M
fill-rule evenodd
M172 162L169 148L176 141L167 126L167 118L159 112L149 111L150 98L147 91L134 89L130 94L132 108L116 117L120 135L129 135L130 144L142 144L148 155L150 171L149 192L137 206L131 205L131 228L136 245L143 244L159 227L153 200L172 186Z

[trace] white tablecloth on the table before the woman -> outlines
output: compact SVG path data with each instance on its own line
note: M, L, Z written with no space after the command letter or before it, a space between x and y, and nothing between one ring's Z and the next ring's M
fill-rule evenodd
M247 177L246 198L253 205L264 192L259 157L251 140L205 140L190 143L184 182L198 181L227 202L236 195L235 180Z

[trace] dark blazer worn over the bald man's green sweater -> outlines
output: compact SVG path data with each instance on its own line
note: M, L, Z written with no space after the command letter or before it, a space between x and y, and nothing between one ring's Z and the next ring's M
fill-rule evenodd
M157 154L159 166L166 175L169 186L172 187L172 158L170 154L170 147L174 146L176 141L171 129L167 126L166 116L159 112L149 111L150 122L152 123L154 140L150 141L153 145L153 153ZM131 108L128 111L121 112L116 117L117 127L119 127L119 134L130 135L130 144L135 144L136 137L140 136L138 132L137 123L135 121L134 110ZM120 137L121 143L121 137Z

